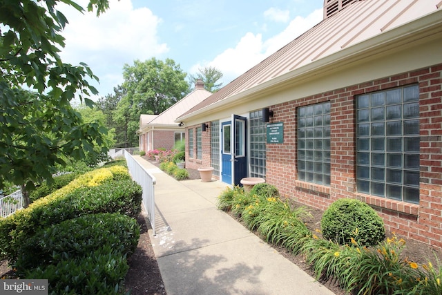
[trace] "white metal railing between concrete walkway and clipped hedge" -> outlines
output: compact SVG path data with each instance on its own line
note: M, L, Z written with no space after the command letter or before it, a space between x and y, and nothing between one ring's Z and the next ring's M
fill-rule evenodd
M153 233L155 233L155 177L148 173L143 166L138 163L130 153L124 151L124 158L126 158L129 172L132 179L140 184L143 189L143 204L147 211L148 218L151 221Z

